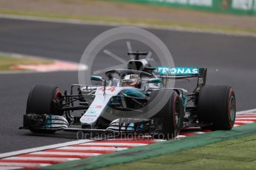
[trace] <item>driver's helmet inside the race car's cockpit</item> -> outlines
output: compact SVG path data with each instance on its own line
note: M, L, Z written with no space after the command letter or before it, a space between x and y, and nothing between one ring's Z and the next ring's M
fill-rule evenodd
M140 88L142 84L142 80L140 75L125 75L125 77L121 81L122 86L134 86Z

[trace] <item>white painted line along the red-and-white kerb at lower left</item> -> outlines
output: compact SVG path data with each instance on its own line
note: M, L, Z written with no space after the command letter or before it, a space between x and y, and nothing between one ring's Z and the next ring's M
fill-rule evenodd
M41 146L41 147L37 147L37 148L24 149L24 150L15 151L15 152L7 152L4 154L0 154L0 158L11 157L11 156L17 155L17 154L27 154L30 152L39 152L39 151L47 150L47 149L56 149L56 148L59 148L62 146L77 145L77 144L81 144L81 143L88 143L91 141L93 141L93 140L74 140L74 141L66 142L66 143L59 143L59 144L54 144L54 145L49 145L49 146Z

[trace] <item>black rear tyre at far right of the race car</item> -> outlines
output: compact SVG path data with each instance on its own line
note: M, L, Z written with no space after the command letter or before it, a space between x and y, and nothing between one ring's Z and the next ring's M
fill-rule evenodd
M201 123L211 123L202 129L230 130L236 116L236 100L231 86L203 86L198 96Z

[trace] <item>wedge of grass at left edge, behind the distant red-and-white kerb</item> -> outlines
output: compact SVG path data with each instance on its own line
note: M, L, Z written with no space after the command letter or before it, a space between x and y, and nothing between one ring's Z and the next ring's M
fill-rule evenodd
M17 65L29 65L29 64L51 64L53 61L41 59L41 58L31 58L24 56L14 56L8 54L0 54L0 71L13 71L12 67Z

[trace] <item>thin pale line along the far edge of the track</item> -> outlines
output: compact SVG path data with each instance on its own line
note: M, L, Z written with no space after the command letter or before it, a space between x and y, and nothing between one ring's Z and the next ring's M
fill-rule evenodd
M110 27L120 27L124 25L131 26L133 24L118 24L114 22L105 22L105 21L81 21L77 19L62 19L62 18L45 18L45 17L33 17L33 16L18 16L18 15L8 15L0 14L0 18L7 19L19 19L24 21L42 21L42 22L52 22L59 24L80 24L80 25L96 25L96 26L110 26ZM198 30L196 28L184 28L184 27L161 27L161 26L150 26L146 24L134 24L134 27L142 27L145 29L154 29L154 30L171 30L177 32L186 32L186 33L206 33L206 34L217 34L217 35L232 35L232 36L252 36L256 37L254 33L227 33L222 30Z

